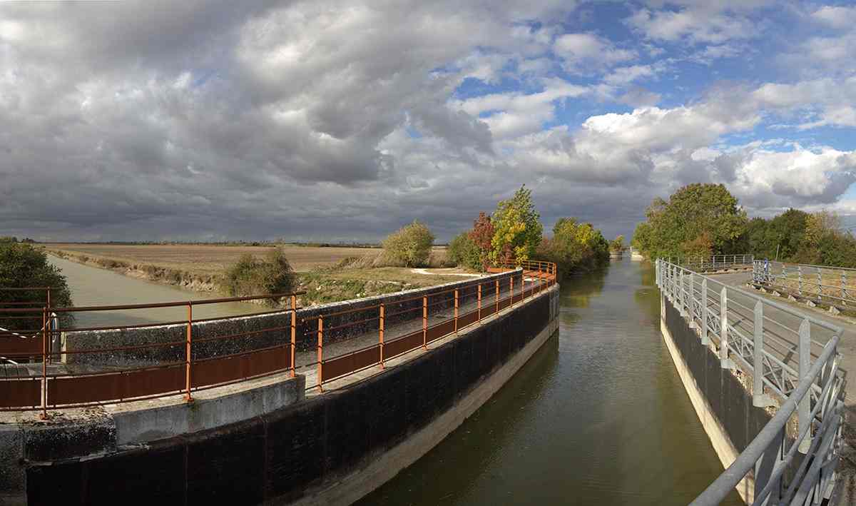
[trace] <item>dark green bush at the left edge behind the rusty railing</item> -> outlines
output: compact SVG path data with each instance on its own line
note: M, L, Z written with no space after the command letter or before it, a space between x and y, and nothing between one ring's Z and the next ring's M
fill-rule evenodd
M50 287L52 307L72 305L71 290L68 289L66 278L62 276L59 267L51 265L44 252L26 244L0 242L0 287ZM45 305L46 294L43 290L14 292L0 290L0 306L9 302L33 302L33 307L40 307ZM62 324L70 324L72 319L71 316L63 315ZM0 327L39 330L42 326L41 320L41 314L33 321L0 318Z

